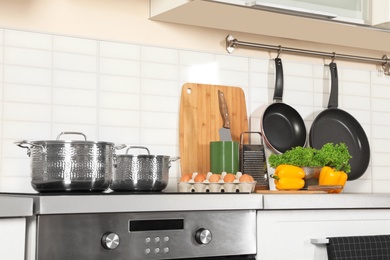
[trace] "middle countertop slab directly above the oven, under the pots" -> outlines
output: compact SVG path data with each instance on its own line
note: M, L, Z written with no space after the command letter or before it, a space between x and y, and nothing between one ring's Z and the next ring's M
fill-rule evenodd
M261 195L233 194L130 194L33 196L36 214L71 214L142 211L259 210Z

